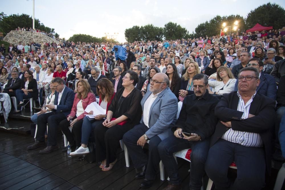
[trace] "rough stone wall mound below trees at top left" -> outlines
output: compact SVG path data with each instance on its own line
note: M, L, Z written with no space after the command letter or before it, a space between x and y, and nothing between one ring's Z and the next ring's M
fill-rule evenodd
M22 31L22 30L11 30L3 39L6 42L9 42L13 45L19 44L19 42L23 43L29 43L35 42L43 45L46 42L55 42L56 44L60 44L59 41L48 37L45 34L42 34L40 32L28 32L28 31Z

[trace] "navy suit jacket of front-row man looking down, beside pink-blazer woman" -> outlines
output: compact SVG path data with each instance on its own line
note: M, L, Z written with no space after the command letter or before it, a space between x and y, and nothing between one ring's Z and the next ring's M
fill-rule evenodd
M58 104L58 94L59 92L56 91L54 105ZM56 112L58 113L62 112L64 113L65 116L67 116L68 114L70 114L73 101L74 101L74 91L65 86L59 105L57 105Z

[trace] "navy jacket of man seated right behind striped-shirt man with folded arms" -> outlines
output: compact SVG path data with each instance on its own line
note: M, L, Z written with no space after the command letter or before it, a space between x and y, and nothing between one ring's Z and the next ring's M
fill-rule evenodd
M235 83L235 90L237 91L238 81ZM271 99L276 100L276 94L277 94L277 87L275 83L274 77L271 75L261 72L260 75L260 83L259 86L256 89L257 93L263 94Z

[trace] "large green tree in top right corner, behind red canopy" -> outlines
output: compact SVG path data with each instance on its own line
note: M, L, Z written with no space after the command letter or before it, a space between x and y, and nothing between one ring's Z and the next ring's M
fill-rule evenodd
M247 28L252 28L257 23L274 29L282 28L285 26L285 9L275 3L261 5L247 14Z

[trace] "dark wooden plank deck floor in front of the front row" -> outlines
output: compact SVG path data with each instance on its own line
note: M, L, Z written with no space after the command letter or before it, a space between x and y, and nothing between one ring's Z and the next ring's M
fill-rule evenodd
M132 163L130 167L125 166L124 152L121 149L118 149L118 162L114 168L103 172L97 163L68 158L66 152L61 151L63 137L60 132L58 142L58 150L39 154L42 147L27 150L27 146L34 143L34 138L30 135L1 131L0 189L140 189L142 179L134 179L136 170ZM189 189L190 164L178 159L178 166L183 189ZM273 189L277 172L277 169L272 170L265 189ZM167 181L161 181L158 173L154 185L149 189L162 189L166 185Z

